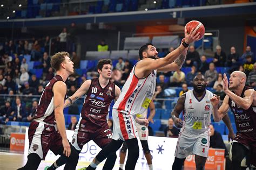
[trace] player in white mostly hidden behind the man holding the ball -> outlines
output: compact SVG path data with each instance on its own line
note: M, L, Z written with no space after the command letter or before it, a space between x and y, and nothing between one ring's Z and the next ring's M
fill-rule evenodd
M149 118L147 118L147 110L143 114L140 114L140 115L138 114L137 117L139 119L147 118L148 121L151 121L151 123L154 123L153 117L156 114L156 109L154 108L153 101L150 102L149 108L150 108ZM135 123L135 124L136 124L136 128L138 131L138 137L140 139L140 143L142 143L143 152L144 152L145 158L147 160L147 165L149 166L149 169L152 170L153 169L152 158L151 158L151 154L150 154L150 150L149 150L149 144L147 144L147 138L149 137L149 129L147 128L147 126L143 126L138 123ZM123 147L120 150L120 168L119 168L119 170L124 169L124 160L125 160L125 156L126 156L126 150L127 150L127 145L124 142Z

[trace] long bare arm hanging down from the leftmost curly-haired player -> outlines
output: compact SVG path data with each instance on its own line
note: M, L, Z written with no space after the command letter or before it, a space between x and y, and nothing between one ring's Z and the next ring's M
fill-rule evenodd
M53 103L54 103L54 113L58 131L60 136L62 137L63 144L63 154L66 157L69 157L71 150L68 138L66 137L66 129L65 129L65 118L63 114L64 109L64 99L66 95L66 84L63 81L57 81L52 88L53 91Z

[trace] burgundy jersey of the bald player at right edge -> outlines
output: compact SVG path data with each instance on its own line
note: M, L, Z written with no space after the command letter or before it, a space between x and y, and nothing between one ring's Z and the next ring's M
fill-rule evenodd
M240 97L243 98L245 96L245 90L248 89L252 88L245 86ZM251 107L247 110L242 109L239 105L235 104L231 98L229 98L228 104L230 105L230 108L234 114L237 132L256 133L256 107L251 105Z

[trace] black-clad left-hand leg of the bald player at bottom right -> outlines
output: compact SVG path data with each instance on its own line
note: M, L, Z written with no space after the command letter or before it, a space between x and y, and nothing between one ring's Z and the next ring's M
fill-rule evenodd
M232 165L234 170L241 169L241 161L248 153L248 149L240 143L232 143Z

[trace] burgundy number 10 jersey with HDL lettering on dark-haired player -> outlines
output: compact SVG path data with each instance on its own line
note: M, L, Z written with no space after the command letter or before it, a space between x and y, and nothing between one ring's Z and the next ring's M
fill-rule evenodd
M87 125L93 124L93 126L102 127L106 123L109 106L115 98L114 87L115 84L109 81L109 84L102 88L98 78L92 79L81 111L81 116L86 120Z

